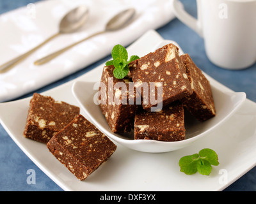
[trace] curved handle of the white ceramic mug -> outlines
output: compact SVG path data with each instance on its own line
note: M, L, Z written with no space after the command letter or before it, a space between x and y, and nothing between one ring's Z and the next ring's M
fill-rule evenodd
M178 0L172 0L172 8L175 16L179 18L181 22L188 25L191 29L193 29L196 33L198 33L201 37L203 37L202 26L200 21L184 10L184 6L180 6L182 3Z

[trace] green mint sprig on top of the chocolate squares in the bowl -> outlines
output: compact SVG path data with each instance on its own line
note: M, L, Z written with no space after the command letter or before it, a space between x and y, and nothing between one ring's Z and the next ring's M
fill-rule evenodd
M113 71L115 78L124 78L129 73L128 64L136 59L140 59L137 55L132 55L128 60L127 50L122 45L115 45L113 47L111 55L113 60L106 62L106 66L113 65L115 69Z

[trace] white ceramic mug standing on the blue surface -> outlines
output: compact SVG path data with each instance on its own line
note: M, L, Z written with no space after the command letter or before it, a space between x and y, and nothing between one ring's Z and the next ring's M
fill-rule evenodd
M198 19L172 0L177 18L205 42L211 62L227 69L243 69L256 62L256 0L197 0Z

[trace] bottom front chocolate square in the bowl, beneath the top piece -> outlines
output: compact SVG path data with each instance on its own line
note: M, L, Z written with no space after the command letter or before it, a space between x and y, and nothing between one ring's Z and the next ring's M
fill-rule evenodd
M164 106L159 112L138 110L134 122L135 140L175 142L185 139L184 109L180 101Z

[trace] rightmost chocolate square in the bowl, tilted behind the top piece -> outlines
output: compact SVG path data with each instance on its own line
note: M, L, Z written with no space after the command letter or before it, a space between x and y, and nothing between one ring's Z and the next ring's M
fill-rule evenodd
M211 119L216 115L216 110L209 81L188 54L181 55L180 58L186 67L193 89L191 96L180 101L196 119L200 121Z

